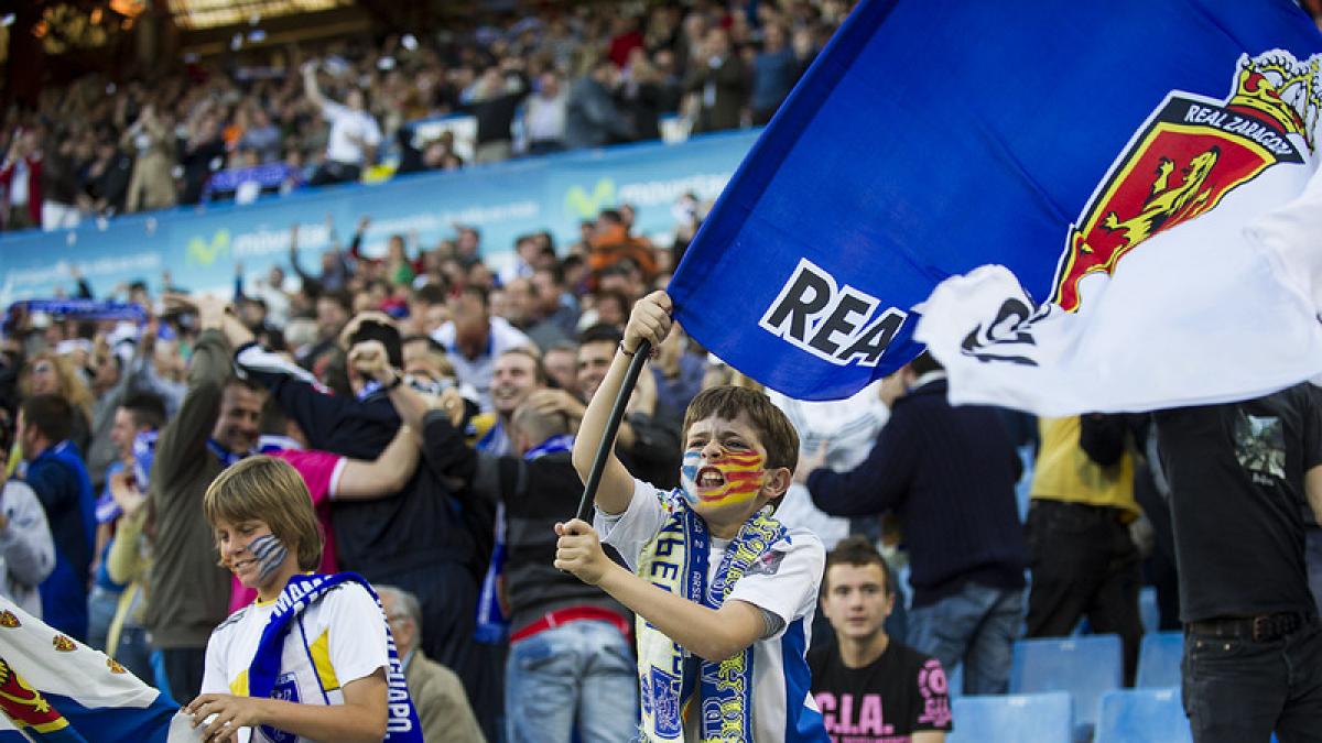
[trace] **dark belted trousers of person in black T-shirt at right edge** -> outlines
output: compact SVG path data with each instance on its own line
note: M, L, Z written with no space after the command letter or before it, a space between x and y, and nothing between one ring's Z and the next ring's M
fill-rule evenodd
M1322 625L1255 643L1185 633L1185 714L1195 743L1322 742Z

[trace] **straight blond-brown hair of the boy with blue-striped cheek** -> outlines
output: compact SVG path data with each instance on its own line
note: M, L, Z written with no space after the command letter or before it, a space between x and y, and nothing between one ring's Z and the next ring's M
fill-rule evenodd
M221 521L262 521L276 539L296 547L299 570L321 565L323 537L312 496L299 472L282 459L250 456L229 467L206 488L202 512L213 529Z

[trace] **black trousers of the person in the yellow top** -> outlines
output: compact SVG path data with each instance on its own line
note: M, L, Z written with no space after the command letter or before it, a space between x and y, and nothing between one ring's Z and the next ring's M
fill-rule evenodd
M1064 637L1081 617L1096 633L1120 635L1125 684L1134 684L1144 623L1138 613L1138 547L1120 512L1034 500L1029 510L1029 637Z

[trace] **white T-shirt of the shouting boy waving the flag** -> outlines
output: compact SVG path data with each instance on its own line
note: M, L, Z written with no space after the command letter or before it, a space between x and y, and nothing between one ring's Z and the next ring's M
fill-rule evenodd
M665 526L669 514L662 498L669 497L641 480L633 481L629 508L619 516L598 512L594 528L602 541L620 551L629 570L637 571L639 555ZM720 567L727 541L713 539L707 563L710 584ZM752 645L752 732L755 740L796 740L787 727L802 718L820 723L817 702L808 693L808 662L805 654L812 643L813 613L826 550L821 541L805 529L789 529L787 537L771 546L779 553L769 561L751 567L726 596L726 602L747 602L779 616L784 625L772 636ZM791 697L791 694L793 697ZM795 714L791 714L791 703ZM698 739L697 719L685 724L685 740Z

